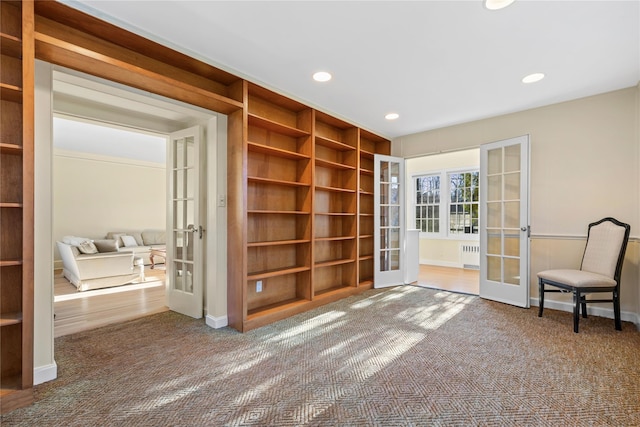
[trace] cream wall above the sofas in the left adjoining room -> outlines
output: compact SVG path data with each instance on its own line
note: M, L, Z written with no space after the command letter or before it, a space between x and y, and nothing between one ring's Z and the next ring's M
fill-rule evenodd
M166 227L164 164L55 150L53 187L55 240Z

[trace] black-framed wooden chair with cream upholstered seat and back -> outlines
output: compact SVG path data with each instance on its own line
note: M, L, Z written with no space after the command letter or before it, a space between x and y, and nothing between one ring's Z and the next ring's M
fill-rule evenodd
M546 270L538 273L540 306L538 317L544 310L545 292L573 293L573 332L578 333L580 307L582 317L587 317L587 303L612 302L616 330L620 322L620 274L624 253L629 241L629 224L614 218L603 218L589 224L587 245L582 256L580 270ZM559 289L545 289L550 285ZM612 299L587 299L590 293L612 292Z

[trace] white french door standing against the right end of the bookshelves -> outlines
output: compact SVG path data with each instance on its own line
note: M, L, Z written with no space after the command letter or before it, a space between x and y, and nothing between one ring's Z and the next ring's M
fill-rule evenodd
M404 284L404 159L374 159L373 283L376 288Z

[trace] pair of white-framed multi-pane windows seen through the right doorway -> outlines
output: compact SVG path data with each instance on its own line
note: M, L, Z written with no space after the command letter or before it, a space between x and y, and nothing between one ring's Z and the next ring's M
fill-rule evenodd
M477 170L442 171L421 175L415 180L417 229L423 233L444 235L448 232L455 236L478 234L480 174Z

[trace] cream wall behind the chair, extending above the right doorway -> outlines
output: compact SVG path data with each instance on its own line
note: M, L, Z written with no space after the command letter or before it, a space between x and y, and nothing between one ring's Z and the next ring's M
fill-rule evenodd
M631 224L621 283L623 318L640 322L638 90L634 86L407 135L393 141L393 154L415 157L529 134L532 303L537 304L536 273L578 267L587 224L613 216ZM559 295L548 300L550 306L558 301L558 308L569 302Z

